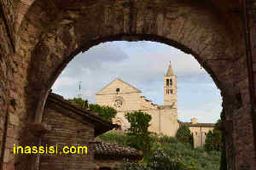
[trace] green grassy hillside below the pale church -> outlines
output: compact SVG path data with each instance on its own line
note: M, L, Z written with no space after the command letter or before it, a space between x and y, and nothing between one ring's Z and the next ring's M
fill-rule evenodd
M98 137L104 141L127 145L129 138L125 133L110 132ZM153 144L152 150L163 150L166 156L177 159L185 165L191 165L196 170L219 170L221 153L211 151L207 153L203 148L192 149L190 144L183 144L177 139L167 136L157 136L151 134ZM147 164L148 158L143 158L143 163Z

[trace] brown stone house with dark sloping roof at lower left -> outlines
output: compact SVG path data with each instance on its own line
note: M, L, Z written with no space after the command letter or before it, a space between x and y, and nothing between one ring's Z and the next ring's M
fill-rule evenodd
M86 146L87 154L59 154L44 155L39 158L39 169L88 169L96 168L95 137L105 133L113 127L112 122L102 119L96 113L85 111L67 102L60 95L49 94L46 100L43 123L51 129L42 136L41 145L56 144L58 150L64 146ZM34 168L36 169L36 168Z

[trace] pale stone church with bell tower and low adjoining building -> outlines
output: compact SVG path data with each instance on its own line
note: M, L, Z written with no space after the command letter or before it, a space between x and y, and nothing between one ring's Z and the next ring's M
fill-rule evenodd
M175 136L178 127L187 126L193 133L195 147L205 143L208 131L214 127L213 123L198 123L195 118L191 122L177 120L177 76L173 73L171 62L164 77L164 105L154 105L151 100L142 96L139 89L119 78L96 93L96 104L108 105L118 111L113 123L119 124L121 130L130 127L125 113L133 111L147 112L152 116L148 128L150 132Z

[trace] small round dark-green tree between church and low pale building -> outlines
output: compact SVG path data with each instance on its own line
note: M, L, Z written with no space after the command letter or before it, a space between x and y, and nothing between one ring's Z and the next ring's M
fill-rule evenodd
M179 127L177 129L176 138L183 143L189 143L192 147L194 146L193 134L190 132L189 127Z

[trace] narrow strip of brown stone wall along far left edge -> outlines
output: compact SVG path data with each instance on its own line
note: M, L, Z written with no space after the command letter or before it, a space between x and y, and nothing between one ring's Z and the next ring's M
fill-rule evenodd
M14 8L9 5L12 6L11 1L0 3L0 166L3 166L3 169L14 167L12 162L15 156L11 152L13 144L19 139L20 129L19 118L14 115L15 110L18 109L18 96L14 85L17 66L12 30L14 19L11 17L15 14ZM5 8L4 12L3 8Z

